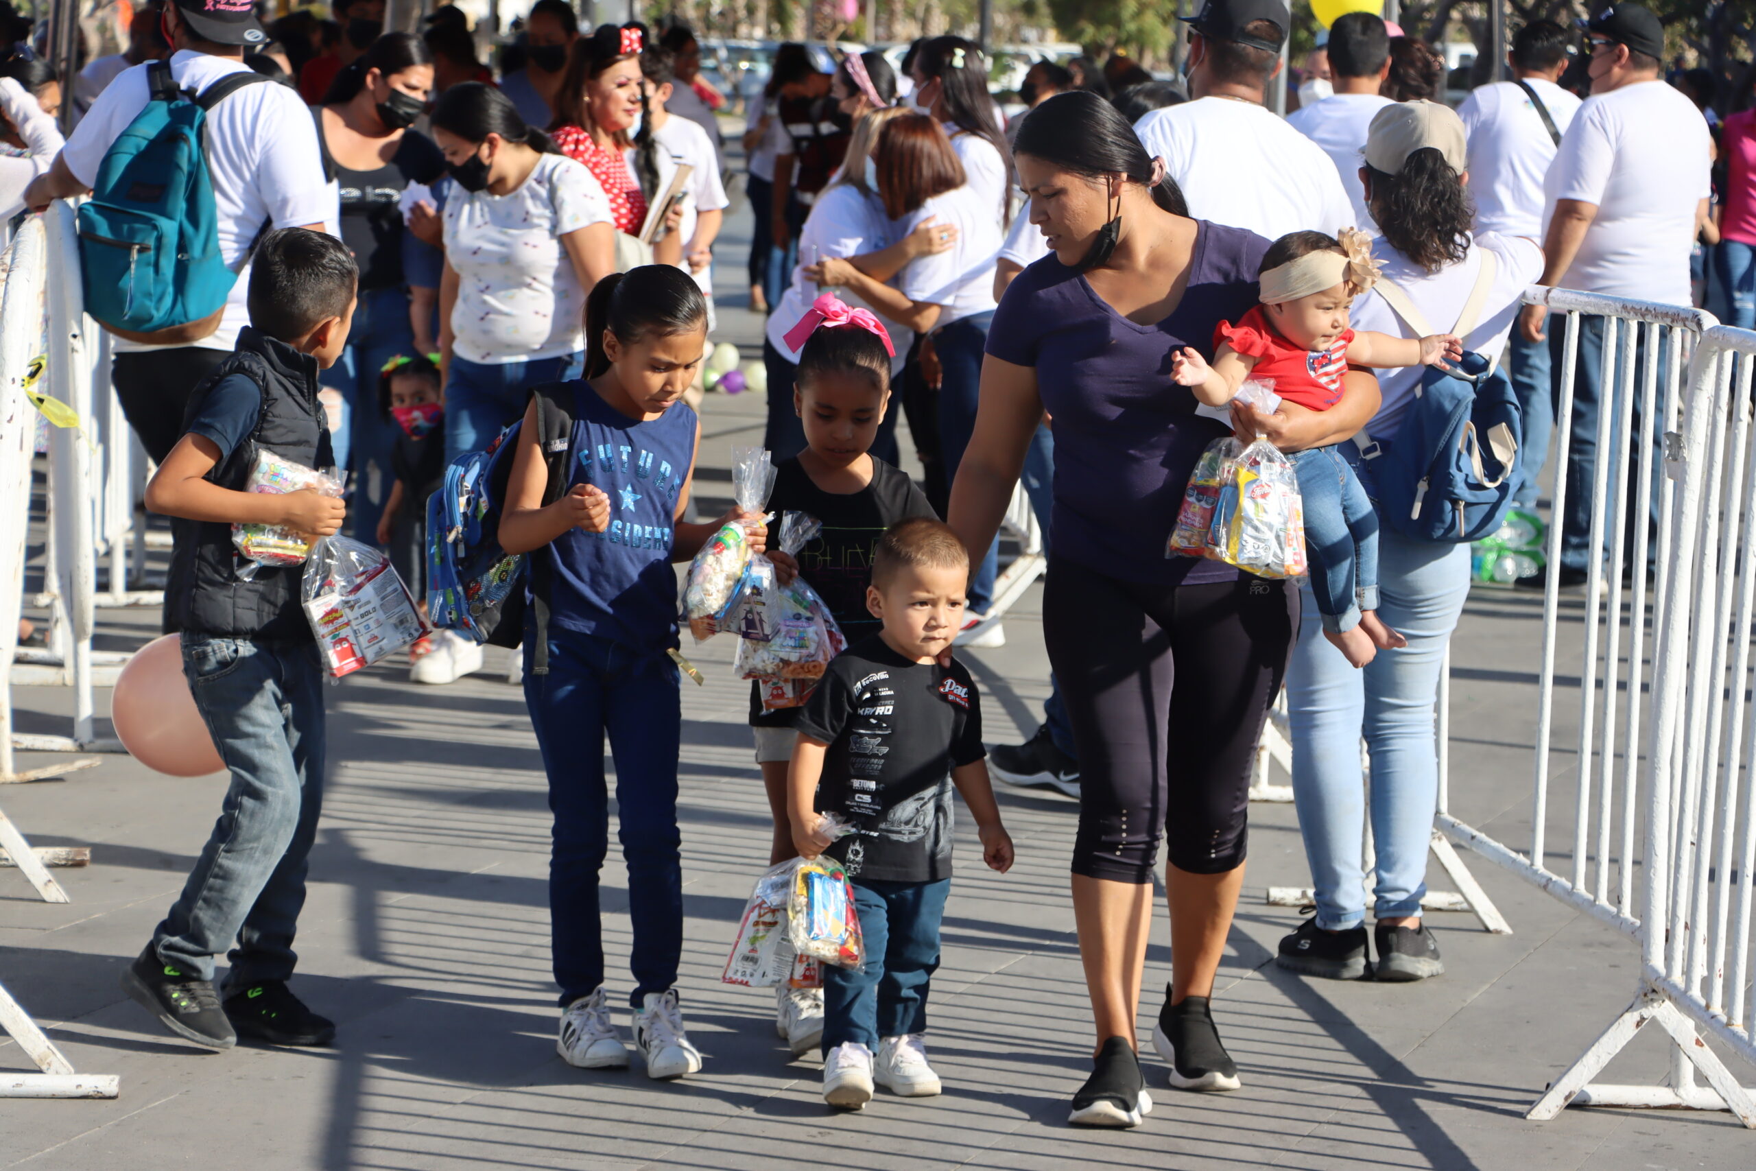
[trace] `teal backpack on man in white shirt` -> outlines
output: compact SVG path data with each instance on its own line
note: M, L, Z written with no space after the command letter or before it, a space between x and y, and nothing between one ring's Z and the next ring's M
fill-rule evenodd
M191 342L220 327L237 274L220 256L204 125L255 72L204 93L177 90L170 67L148 65L148 102L104 154L91 198L79 205L86 313L133 341Z

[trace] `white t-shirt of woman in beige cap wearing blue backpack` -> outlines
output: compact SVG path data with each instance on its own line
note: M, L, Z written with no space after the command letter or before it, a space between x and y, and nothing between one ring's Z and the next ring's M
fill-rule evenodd
M1371 255L1384 267L1384 279L1408 293L1433 330L1449 334L1457 325L1457 314L1475 290L1475 277L1482 270L1482 253L1494 253L1494 284L1487 290L1482 304L1482 316L1475 328L1463 339L1465 349L1473 349L1484 358L1494 360L1507 344L1507 334L1517 320L1524 290L1542 276L1542 248L1536 241L1517 235L1477 235L1470 242L1470 255L1438 272L1428 272L1412 263L1407 256L1391 248L1382 237L1373 242ZM1354 302L1349 325L1356 330L1377 330L1391 337L1419 337L1407 321L1396 316L1389 304L1377 293L1366 293ZM1378 393L1384 402L1378 413L1366 423L1366 432L1373 439L1394 439L1396 428L1403 421L1403 413L1414 402L1415 386L1426 367L1387 367L1377 370Z

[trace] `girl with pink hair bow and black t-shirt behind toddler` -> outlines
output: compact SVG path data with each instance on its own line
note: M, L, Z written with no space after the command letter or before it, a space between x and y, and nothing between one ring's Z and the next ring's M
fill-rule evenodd
M825 293L787 341L799 351L792 400L804 421L806 448L780 463L769 511L776 516L804 513L824 525L817 539L799 550L797 569L853 644L880 625L866 609L878 539L897 521L938 520L938 514L906 472L869 453L890 406L890 335L878 318ZM799 711L764 711L760 685L750 685L750 730L774 818L769 866L795 855L787 815L787 764ZM794 1057L817 1048L824 1034L822 988L781 985L774 994L776 1029Z

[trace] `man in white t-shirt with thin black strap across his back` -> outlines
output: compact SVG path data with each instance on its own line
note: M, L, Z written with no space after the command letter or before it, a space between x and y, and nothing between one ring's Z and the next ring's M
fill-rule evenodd
M1457 107L1470 135L1470 193L1479 235L1542 239L1544 179L1579 98L1558 86L1570 39L1554 21L1531 21L1512 39L1514 81L1477 86ZM1533 507L1554 432L1554 377L1547 341L1512 332L1507 374L1524 413L1524 483L1517 502Z

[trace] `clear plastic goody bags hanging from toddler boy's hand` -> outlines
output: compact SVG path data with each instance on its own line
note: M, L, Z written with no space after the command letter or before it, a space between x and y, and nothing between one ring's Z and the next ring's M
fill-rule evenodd
M825 815L822 829L841 837L852 829ZM815 983L810 960L859 967L866 959L853 887L841 864L827 855L788 858L757 880L738 939L720 980L753 988L790 981Z

